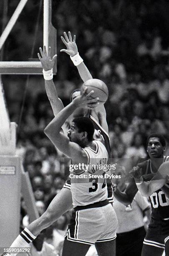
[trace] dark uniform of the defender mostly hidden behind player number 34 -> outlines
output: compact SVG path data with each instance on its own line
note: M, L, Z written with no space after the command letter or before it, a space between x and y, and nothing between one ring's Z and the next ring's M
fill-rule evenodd
M93 120L94 128L101 134L103 141L104 141L104 145L108 152L108 158L110 159L111 151L110 151L110 141L109 141L108 133L106 133L106 131L104 131L104 129L101 127L101 125L97 122L97 120L95 118L93 118L91 115L89 117L91 118L91 120ZM71 188L71 180L68 179L63 187L70 189ZM107 190L108 190L108 201L113 202L113 187L112 187L111 179L108 179L108 181L107 181Z

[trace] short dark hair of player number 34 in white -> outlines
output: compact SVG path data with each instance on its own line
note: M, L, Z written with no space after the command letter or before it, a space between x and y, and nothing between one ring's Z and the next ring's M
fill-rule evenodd
M72 122L76 124L80 133L86 131L88 141L93 141L94 124L90 118L82 116L74 118Z

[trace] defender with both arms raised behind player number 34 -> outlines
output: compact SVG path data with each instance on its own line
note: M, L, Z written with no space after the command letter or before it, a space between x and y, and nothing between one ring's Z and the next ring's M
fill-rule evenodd
M61 51L65 51L70 56L76 56L78 52L78 47L75 41L76 36L74 36L72 40L71 33L68 32L68 34L69 34L69 38L66 32L64 32L65 39L61 37L62 41L65 42L67 51L66 49L63 49ZM55 84L53 82L52 68L57 56L55 55L53 56L53 58L51 58L50 47L48 49L48 54L47 54L46 48L44 47L44 51L42 51L42 49L40 48L40 54L38 54L38 57L41 61L43 72L48 73L46 76L44 75L45 90L48 95L48 99L50 101L51 107L53 109L53 113L56 116L64 108L61 99L58 98ZM92 79L92 76L88 71L86 65L84 64L83 59L81 59L80 63L78 63L76 67L84 83L89 79L90 80ZM71 100L77 97L78 95L80 95L80 89L74 91L71 94ZM96 135L98 137L100 134L100 137L104 138L104 143L110 157L108 125L106 122L106 110L104 108L104 105L99 104L96 108L91 110L86 108L81 110L78 109L76 111L73 113L74 115L75 113L76 113L76 116L88 115L91 118L91 120L93 120L93 124L95 126L95 132L97 131ZM73 115L70 116L62 126L65 135L67 135L68 126L70 125L70 122L73 118L74 118ZM69 180L68 182L66 182L63 189L61 189L61 191L52 200L52 202L50 203L48 209L44 212L44 214L40 216L40 218L38 218L37 220L34 220L32 223L30 223L28 227L25 228L20 233L20 235L15 239L11 247L28 247L28 244L32 242L43 229L52 225L52 223L54 223L61 215L63 215L64 212L70 210L72 208L72 195L71 195L70 188L71 188L71 184ZM113 202L113 192L112 192L111 183L107 183L107 189L108 189L108 200L109 202ZM116 226L116 223L115 223L115 226ZM29 235L29 238L28 238L28 235ZM103 243L100 243L100 245L102 244ZM98 246L99 246L99 243L98 243Z

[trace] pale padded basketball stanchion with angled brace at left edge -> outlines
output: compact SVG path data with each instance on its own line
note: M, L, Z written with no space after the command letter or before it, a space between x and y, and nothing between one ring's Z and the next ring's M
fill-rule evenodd
M1 81L1 80L0 80ZM0 247L9 247L20 233L20 197L30 221L39 217L27 172L16 152L16 123L11 122L0 83Z

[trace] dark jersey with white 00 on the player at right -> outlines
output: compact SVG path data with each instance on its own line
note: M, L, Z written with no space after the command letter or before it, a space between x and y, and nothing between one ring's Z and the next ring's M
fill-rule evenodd
M164 156L164 161L168 160L169 156ZM156 174L158 169L151 163L150 159L139 163L138 166L142 168L143 174L147 174L147 176L144 177L145 181L149 181L154 174ZM167 186L169 187L169 184L167 184ZM154 192L149 199L151 202L152 218L169 220L169 199L166 198L164 192L159 189Z

